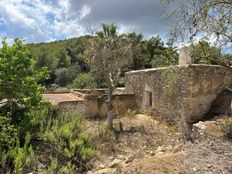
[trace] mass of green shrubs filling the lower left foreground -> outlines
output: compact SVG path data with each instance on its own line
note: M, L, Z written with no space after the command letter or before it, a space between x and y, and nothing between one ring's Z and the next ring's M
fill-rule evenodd
M79 113L57 114L56 106L49 104L26 116L29 121L16 128L10 118L0 117L0 173L35 171L41 152L50 161L48 173L81 173L88 168L95 148L82 131ZM44 154L44 148L49 153Z

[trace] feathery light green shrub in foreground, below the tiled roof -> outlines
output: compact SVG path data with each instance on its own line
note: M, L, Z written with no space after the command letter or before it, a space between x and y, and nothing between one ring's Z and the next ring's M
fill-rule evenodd
M57 160L53 172L67 171L83 172L88 168L87 162L94 157L95 148L89 136L83 133L79 113L63 113L51 121L43 133L46 141L50 142L55 153L52 159ZM51 165L53 163L51 162ZM86 165L83 165L86 164Z

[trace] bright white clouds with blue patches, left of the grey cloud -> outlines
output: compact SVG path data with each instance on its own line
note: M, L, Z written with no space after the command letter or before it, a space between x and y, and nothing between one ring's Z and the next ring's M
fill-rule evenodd
M26 42L70 38L84 32L69 0L1 0L0 9L0 26L7 36L26 38Z

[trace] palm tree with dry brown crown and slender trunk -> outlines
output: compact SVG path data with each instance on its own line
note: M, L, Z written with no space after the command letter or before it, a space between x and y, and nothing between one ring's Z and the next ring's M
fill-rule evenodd
M131 44L127 39L117 34L115 24L102 24L102 31L92 40L89 55L90 66L101 75L108 87L107 121L113 128L112 96L121 74L121 69L131 61Z

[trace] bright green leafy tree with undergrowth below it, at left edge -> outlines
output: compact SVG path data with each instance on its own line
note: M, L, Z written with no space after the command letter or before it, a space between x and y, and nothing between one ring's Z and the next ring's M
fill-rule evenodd
M42 102L46 68L35 70L35 62L20 39L9 46L6 39L0 49L0 173L25 173L34 161L30 144L28 111ZM32 166L30 166L32 167Z

